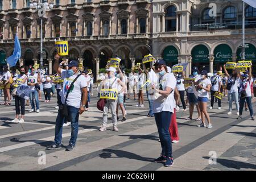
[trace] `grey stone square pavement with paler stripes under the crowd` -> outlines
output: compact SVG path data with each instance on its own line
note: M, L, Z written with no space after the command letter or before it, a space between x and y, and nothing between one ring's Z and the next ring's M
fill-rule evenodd
M200 122L187 121L188 111L177 113L180 142L172 144L174 166L152 160L160 155L160 143L154 117L148 118L148 103L135 107L137 101L127 101L127 121L118 121L119 132L112 130L109 115L108 130L98 131L102 112L92 97L89 111L80 116L79 137L75 150L45 150L55 133L56 97L46 104L40 102L40 113L26 111L25 123L8 121L15 107L0 106L0 170L255 170L256 121L249 112L237 121L236 111L227 115L226 97L222 110L208 110L213 128L196 127ZM2 103L2 98L1 98ZM12 101L12 104L14 102ZM254 110L255 103L253 104ZM30 107L26 107L29 110ZM121 111L119 110L119 117ZM193 118L196 118L196 111ZM71 126L63 129L63 144L68 144ZM46 152L46 164L38 162L40 152ZM213 162L210 164L209 162ZM216 162L216 163L215 163Z

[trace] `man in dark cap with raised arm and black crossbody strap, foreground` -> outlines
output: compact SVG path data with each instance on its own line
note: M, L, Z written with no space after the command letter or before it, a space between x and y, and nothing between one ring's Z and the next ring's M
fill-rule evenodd
M60 56L55 55L55 63L53 67L64 80L63 89L60 91L60 97L61 103L67 106L68 121L71 122L71 139L67 146L67 150L71 151L76 145L77 134L79 131L79 114L82 114L85 111L85 104L87 101L87 82L85 77L81 76L78 61L71 60L68 64L68 70L65 70L60 68L59 60ZM69 94L67 97L68 92ZM63 107L63 105L60 106L60 108ZM61 148L62 129L65 121L65 117L63 115L64 110L65 109L59 109L55 126L55 142L51 146L47 147L49 150Z

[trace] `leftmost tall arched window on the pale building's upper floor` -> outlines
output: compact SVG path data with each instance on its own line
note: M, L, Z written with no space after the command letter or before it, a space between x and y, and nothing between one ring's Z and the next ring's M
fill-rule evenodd
M176 7L169 6L166 9L166 32L176 31Z

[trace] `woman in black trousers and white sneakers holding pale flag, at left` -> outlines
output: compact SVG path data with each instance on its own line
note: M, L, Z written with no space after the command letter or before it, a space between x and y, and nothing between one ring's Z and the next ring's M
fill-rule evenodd
M15 81L16 85L27 84L27 76L25 75L25 67L20 67L20 75L16 77ZM24 123L24 115L25 115L25 99L19 96L14 96L15 99L15 110L16 116L15 119L11 122L14 123ZM21 110L21 117L19 119Z

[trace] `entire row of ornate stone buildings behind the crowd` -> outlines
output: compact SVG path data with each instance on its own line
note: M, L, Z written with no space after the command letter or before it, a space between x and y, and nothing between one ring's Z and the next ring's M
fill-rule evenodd
M48 1L51 2L51 1ZM209 16L216 3L217 17ZM0 0L0 64L22 46L20 65L39 64L40 18L27 0ZM131 68L151 53L170 65L189 63L213 72L241 59L241 0L55 0L43 18L44 65L52 72L54 40L68 40L69 59L94 76L110 57ZM256 9L246 5L246 59L256 63ZM151 63L152 64L152 63Z

